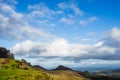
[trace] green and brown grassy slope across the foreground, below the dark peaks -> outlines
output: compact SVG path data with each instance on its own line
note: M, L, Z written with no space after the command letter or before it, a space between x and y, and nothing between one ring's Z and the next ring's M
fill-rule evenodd
M1 62L4 64L1 67ZM28 70L18 68L20 60L0 58L0 80L84 80L74 71L35 70L28 66Z

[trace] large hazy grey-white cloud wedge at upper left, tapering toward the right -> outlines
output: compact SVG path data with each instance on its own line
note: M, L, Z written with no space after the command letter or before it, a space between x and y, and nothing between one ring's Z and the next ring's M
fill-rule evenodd
M44 30L35 28L27 20L27 16L18 13L10 5L0 3L0 37L7 39L50 39L53 37Z

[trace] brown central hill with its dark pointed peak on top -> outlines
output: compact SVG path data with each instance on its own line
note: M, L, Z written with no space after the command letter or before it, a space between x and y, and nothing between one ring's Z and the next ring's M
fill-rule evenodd
M63 65L59 65L47 73L53 80L85 80L77 72Z

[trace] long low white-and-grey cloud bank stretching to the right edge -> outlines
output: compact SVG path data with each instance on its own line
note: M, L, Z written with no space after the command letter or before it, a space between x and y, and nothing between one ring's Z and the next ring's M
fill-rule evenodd
M63 38L56 38L50 43L24 41L11 49L13 53L28 57L73 57L78 59L119 60L120 44L118 28L113 28L108 37L93 45L73 44ZM117 36L117 38L116 38ZM110 41L111 40L111 41ZM114 45L111 45L114 43Z

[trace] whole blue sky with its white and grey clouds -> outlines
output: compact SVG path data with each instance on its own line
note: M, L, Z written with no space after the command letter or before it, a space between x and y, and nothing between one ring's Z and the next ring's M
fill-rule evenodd
M119 0L0 0L0 46L55 68L120 67Z

